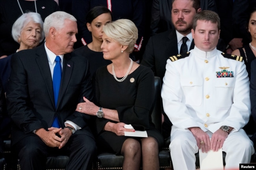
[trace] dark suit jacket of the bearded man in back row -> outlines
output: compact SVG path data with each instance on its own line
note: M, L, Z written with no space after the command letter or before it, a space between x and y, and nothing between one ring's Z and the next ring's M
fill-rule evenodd
M148 40L141 64L151 68L154 75L161 78L161 83L163 83L167 59L178 54L177 41L175 29L153 35ZM195 44L192 41L190 49L194 47Z

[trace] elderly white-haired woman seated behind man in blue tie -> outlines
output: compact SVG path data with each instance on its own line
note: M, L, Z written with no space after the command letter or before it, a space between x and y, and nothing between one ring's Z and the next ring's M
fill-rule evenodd
M45 38L43 32L43 20L39 13L24 13L13 24L12 37L20 44L16 52L23 49L35 48ZM11 57L0 59L0 79L6 91L7 80L11 72Z

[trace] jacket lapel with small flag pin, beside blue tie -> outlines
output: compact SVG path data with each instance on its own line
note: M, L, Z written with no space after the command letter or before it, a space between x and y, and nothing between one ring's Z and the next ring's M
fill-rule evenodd
M74 68L74 62L70 60L70 58L72 58L70 53L64 55L57 109L59 107L60 101L62 101L64 97L65 91L67 90L67 86L69 84L69 80L72 76L72 69Z

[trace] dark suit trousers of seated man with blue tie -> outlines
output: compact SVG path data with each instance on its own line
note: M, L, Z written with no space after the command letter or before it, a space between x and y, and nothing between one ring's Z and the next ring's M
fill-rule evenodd
M90 170L96 157L95 140L85 134L74 133L67 144L51 148L37 136L23 138L12 147L20 159L21 170L45 170L48 155L67 155L69 162L65 170Z

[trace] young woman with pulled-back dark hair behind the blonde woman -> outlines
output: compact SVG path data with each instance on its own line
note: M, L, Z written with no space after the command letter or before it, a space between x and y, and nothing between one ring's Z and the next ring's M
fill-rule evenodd
M96 70L111 63L103 58L102 49L102 27L112 21L112 15L104 6L93 7L86 16L87 29L91 32L93 41L85 46L74 50L74 53L82 55L89 60L90 73L93 75Z

